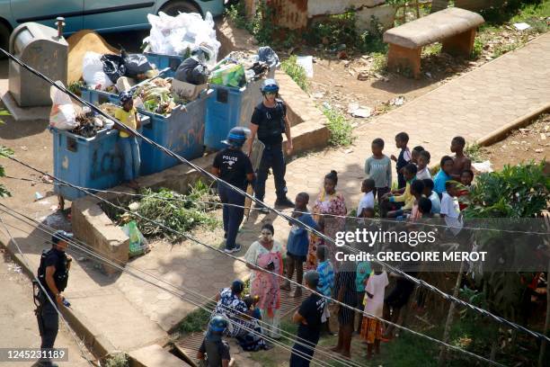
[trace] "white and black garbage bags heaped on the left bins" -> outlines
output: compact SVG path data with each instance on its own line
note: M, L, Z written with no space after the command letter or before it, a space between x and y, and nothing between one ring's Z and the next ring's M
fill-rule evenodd
M124 49L120 55L86 52L83 59L84 84L110 93L124 90L121 85L135 85L157 75L155 65L150 64L144 55L129 54Z

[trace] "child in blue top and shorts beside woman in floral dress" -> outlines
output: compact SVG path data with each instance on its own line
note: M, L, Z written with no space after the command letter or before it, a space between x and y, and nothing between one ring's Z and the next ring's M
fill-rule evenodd
M307 192L299 192L296 195L296 207L292 213L292 218L296 218L306 226L317 229L317 223L307 211L307 203L309 195ZM288 222L292 226L288 234L287 241L287 277L292 279L294 269L296 269L296 282L302 284L304 275L304 263L306 262L307 250L309 248L309 239L307 237L306 228L299 227L296 224ZM280 286L281 290L290 291L290 282L288 279ZM294 292L289 294L290 297L300 297L302 295L302 287L296 287Z

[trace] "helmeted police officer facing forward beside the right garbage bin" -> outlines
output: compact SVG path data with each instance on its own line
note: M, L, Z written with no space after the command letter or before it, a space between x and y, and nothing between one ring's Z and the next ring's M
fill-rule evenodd
M258 168L258 177L256 180L255 195L256 199L263 201L265 196L265 181L268 171L273 170L275 178L275 192L277 201L275 205L279 207L293 208L294 203L287 198L287 183L285 182L285 172L287 166L283 156L282 134L287 136L287 154L292 151L292 137L290 135L290 124L287 118L287 106L277 97L279 96L279 85L274 79L266 79L262 85L263 101L254 108L250 130L251 140L249 144L248 156L252 154L253 140L256 134L258 139L265 145L263 149L262 160ZM263 212L267 209L259 206Z

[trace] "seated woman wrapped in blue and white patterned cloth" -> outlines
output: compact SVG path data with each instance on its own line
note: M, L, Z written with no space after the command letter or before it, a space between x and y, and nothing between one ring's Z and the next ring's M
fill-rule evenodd
M225 334L229 337L235 337L239 345L246 352L255 352L262 349L269 349L262 339L262 328L258 320L253 318L250 308L242 298L244 291L244 282L236 280L231 288L224 288L217 294L216 309L212 313L212 318L224 316L230 319Z

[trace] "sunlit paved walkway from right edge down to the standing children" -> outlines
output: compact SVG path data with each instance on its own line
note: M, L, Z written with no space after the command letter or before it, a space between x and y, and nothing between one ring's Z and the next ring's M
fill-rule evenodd
M473 143L550 105L548 65L550 33L364 124L355 131L358 139L349 153L349 149L326 150L292 161L286 176L289 196L294 199L297 192L305 191L313 195L310 202L315 200L324 175L334 169L339 173L338 190L344 193L348 210L353 209L359 202L360 182L365 177L363 165L372 154L373 139L384 139L386 155L397 156L395 134L406 131L410 148L421 145L430 151L431 164L439 163L440 157L451 154L453 137L461 135ZM271 178L266 192L267 201L274 202ZM280 219L276 221L279 222ZM279 227L288 226L280 223Z

